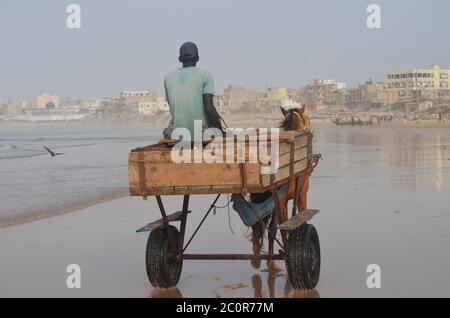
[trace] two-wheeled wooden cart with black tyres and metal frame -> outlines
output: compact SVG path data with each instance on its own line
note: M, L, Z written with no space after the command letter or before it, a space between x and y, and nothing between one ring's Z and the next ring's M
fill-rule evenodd
M272 174L263 173L273 162L260 160L259 144L251 137L245 140L240 150L236 140L225 140L222 148L212 147L211 162L203 147L189 147L176 150L178 154L197 158L196 163L174 163L172 151L177 141L162 140L158 144L132 150L129 154L130 194L147 199L155 196L161 218L153 221L137 232L150 232L146 249L146 268L151 284L155 287L174 287L180 278L183 260L285 260L289 279L294 288L312 289L316 286L320 272L320 244L314 226L307 222L318 210L306 209L306 192L309 176L317 165L320 155L313 155L312 134L302 131L283 132L279 135L277 147L279 164ZM276 151L269 142L267 153ZM226 147L226 145L231 145ZM204 142L203 146L211 146ZM227 150L226 150L227 149ZM230 149L234 149L234 163L217 163L217 158L229 159ZM245 151L242 152L242 149ZM255 156L257 158L255 162ZM198 160L198 158L201 158ZM223 160L225 162L225 160ZM226 162L230 162L229 160ZM266 164L261 164L266 162ZM299 182L303 180L303 182ZM275 223L280 216L280 198L277 189L295 182L295 199L292 217L282 224ZM187 248L215 208L222 194L247 194L271 191L275 202L272 212L273 222L266 225L269 239L281 248L268 254L188 254ZM215 194L215 198L200 224L185 243L189 198L193 194ZM163 195L183 195L183 205L179 212L167 214L162 201ZM297 206L298 197L303 196L304 204ZM297 213L297 210L298 213ZM300 211L301 210L301 211ZM179 227L172 223L179 222ZM277 239L277 232L287 237Z

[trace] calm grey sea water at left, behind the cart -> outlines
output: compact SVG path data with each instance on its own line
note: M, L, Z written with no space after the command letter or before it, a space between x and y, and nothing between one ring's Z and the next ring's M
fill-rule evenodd
M128 152L160 129L0 128L0 226L128 194ZM64 153L51 157L43 146Z

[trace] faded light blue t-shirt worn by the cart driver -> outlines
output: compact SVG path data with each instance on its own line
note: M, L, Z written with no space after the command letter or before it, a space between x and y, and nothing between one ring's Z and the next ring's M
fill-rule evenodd
M194 121L201 120L203 129L208 128L203 108L203 95L214 95L214 80L209 72L196 67L179 68L164 79L166 100L172 119L164 130L165 138L170 138L176 128L186 128L194 138Z

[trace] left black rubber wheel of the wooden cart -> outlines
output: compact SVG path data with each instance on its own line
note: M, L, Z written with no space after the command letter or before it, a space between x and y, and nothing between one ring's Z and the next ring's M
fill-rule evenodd
M180 236L177 228L170 226L169 232L172 242L177 244ZM148 279L153 287L175 287L180 280L183 260L169 259L170 252L176 253L176 251L170 251L166 231L162 228L152 231L148 237L145 265Z

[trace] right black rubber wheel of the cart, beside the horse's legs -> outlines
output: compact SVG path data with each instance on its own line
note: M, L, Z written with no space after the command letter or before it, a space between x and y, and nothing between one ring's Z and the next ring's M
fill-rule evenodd
M295 289L314 289L320 275L320 243L316 228L306 224L289 235L286 269Z

